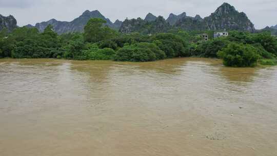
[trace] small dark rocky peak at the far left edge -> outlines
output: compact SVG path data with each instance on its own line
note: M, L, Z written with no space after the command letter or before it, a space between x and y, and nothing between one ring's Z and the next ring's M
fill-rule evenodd
M5 17L0 14L0 31L4 28L7 28L10 32L17 27L16 24L16 19L12 15Z

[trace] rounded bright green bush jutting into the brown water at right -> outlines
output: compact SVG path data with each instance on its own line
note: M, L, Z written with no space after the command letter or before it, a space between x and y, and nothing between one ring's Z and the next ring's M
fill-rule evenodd
M258 60L258 52L251 45L231 43L218 53L225 66L253 67Z

